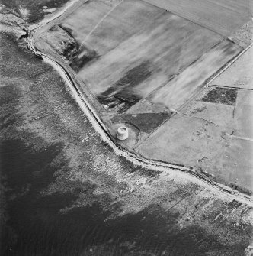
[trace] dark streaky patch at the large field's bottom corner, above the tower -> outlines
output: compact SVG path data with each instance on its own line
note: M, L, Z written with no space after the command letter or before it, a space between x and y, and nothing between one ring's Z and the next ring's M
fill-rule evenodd
M142 99L133 89L149 76L151 76L149 62L145 61L129 70L114 86L97 96L98 101L103 105L107 105L110 109L115 108L117 112L123 113Z

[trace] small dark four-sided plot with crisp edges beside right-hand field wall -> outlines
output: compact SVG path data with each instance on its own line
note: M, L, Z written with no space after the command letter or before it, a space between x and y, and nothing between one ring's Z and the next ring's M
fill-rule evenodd
M200 100L203 102L235 105L236 97L236 89L215 87L210 92L207 92L207 94Z

